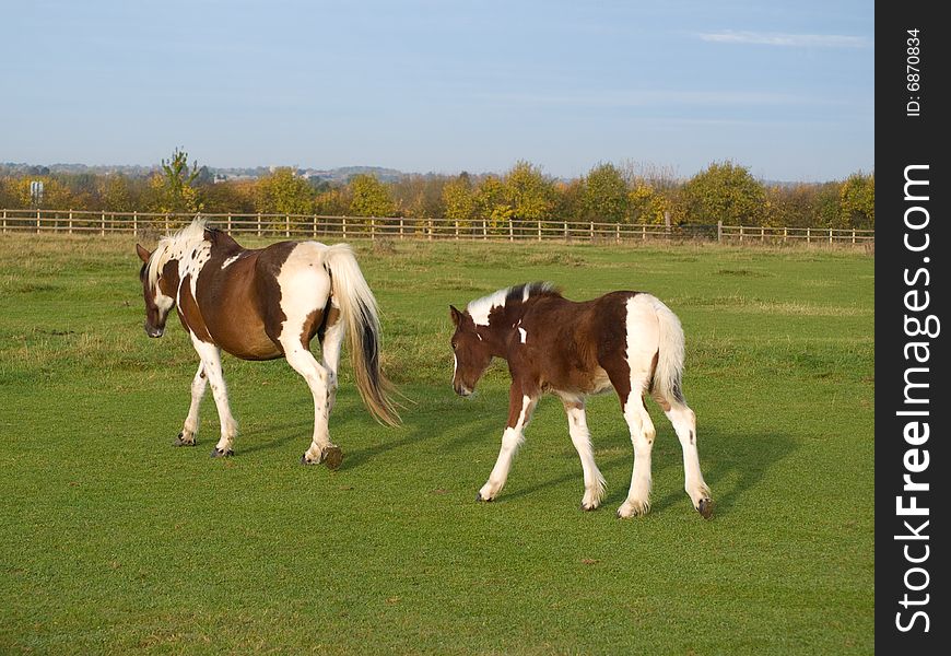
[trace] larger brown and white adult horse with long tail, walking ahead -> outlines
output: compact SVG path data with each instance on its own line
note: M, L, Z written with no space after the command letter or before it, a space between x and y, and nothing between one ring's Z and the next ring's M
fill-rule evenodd
M145 332L162 337L172 308L201 359L191 382L191 407L176 446L193 446L198 408L211 382L221 419L212 456L234 454L237 424L228 407L221 351L243 360L286 358L314 396L314 437L301 458L336 469L343 457L330 442L328 422L337 393L337 365L344 335L356 386L375 418L396 424L399 417L379 367L376 300L353 251L345 244L281 242L246 249L227 234L196 219L164 237L150 253L136 245L145 297ZM322 362L310 353L321 343Z

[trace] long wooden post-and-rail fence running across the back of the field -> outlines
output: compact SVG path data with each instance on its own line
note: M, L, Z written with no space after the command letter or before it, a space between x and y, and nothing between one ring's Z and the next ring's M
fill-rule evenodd
M600 223L595 221L494 222L489 219L410 219L390 216L325 216L320 214L202 213L233 234L258 237L427 241L561 241L635 242L648 239L705 239L735 244L874 244L874 231L827 227L760 227L743 225L665 225ZM192 214L97 212L89 210L0 210L0 233L167 234L193 219Z

